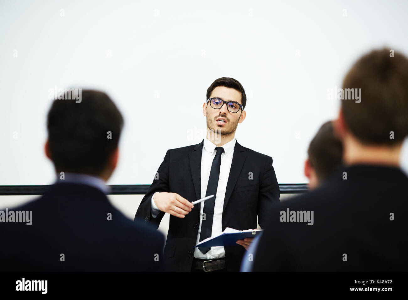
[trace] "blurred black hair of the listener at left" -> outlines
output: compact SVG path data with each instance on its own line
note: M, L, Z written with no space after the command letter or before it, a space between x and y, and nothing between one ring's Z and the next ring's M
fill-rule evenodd
M64 99L75 99L65 94ZM118 147L122 114L103 92L84 90L81 102L54 100L47 129L57 171L100 175ZM111 138L108 138L108 131Z

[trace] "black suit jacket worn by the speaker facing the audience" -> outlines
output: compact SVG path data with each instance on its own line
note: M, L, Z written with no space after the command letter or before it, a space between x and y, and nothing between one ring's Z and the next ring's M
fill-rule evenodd
M137 209L135 220L142 219L159 227L164 216L151 215L151 196L155 192L172 192L194 201L201 198L201 157L204 140L200 144L168 150ZM249 179L252 172L252 178ZM235 144L231 170L226 186L222 230L226 227L244 230L263 226L268 208L279 202L279 186L272 158ZM171 271L191 271L194 246L200 224L200 205L195 205L185 218L170 216L169 233L164 247L164 259ZM239 271L244 247L225 247L227 271Z

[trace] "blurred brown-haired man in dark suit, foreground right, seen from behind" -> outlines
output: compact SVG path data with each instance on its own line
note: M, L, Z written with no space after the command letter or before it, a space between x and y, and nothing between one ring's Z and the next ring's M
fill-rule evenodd
M335 123L345 167L271 209L249 253L253 271L408 271L408 178L399 169L408 59L390 52L372 51L348 72ZM351 89L359 100L345 97Z

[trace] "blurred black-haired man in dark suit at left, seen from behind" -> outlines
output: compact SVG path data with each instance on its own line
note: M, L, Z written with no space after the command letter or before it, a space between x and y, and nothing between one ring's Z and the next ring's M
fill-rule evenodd
M118 162L121 113L105 93L82 91L80 102L69 93L48 114L45 151L57 183L38 200L7 209L1 271L161 271L164 236L123 216L105 196ZM10 222L17 214L29 222Z

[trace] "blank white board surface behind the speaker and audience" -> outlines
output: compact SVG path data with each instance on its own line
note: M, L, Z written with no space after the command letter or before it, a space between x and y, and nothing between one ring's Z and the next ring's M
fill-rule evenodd
M279 183L305 183L308 143L339 107L327 90L372 48L406 54L407 12L407 1L2 1L0 185L53 182L54 86L113 98L126 124L108 183L151 184L167 149L204 137L206 89L222 76L248 96L238 142L272 156Z

